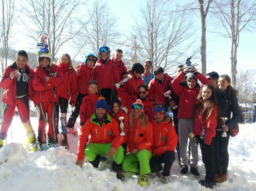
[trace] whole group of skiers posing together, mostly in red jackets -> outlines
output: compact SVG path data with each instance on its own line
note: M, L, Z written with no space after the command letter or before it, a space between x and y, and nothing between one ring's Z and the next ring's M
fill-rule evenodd
M127 71L121 49L116 49L110 59L110 49L103 46L97 56L88 53L74 69L68 54L62 54L53 64L50 51L41 48L38 66L32 70L27 65L27 53L18 51L0 82L4 89L0 148L6 144L17 107L31 151L36 151L38 144L41 150L59 146L59 119L61 145L69 149L67 132L78 134L74 124L80 117L76 164L81 167L84 157L97 168L108 155L113 157L112 170L121 181L125 180L122 172L131 171L140 174L140 185L146 185L150 172L168 183L175 148L180 173L186 175L190 165L190 172L200 176L200 145L206 176L199 183L213 188L216 181L227 180L228 142L238 133L234 128L240 115L237 92L228 75L210 72L205 77L194 66L189 70L179 65L173 79L162 67L155 67L151 73L151 61L144 66L133 64ZM37 139L30 124L29 100L38 112ZM67 120L68 104L75 109ZM168 116L169 107L173 119Z

